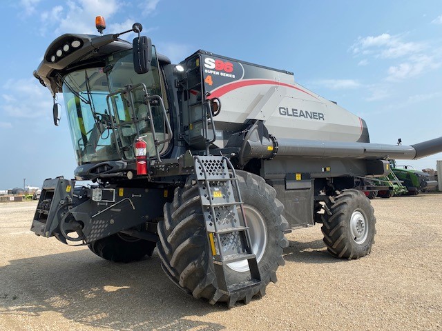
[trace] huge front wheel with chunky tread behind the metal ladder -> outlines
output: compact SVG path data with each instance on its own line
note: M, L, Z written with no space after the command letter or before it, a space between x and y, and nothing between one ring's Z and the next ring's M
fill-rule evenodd
M253 252L256 254L261 274L260 288L248 288L233 295L218 291L213 272L209 242L204 225L198 185L189 180L184 188L177 188L173 203L164 205L164 221L158 223L160 242L158 254L166 275L177 285L197 299L207 299L211 304L227 302L229 307L236 301L249 303L256 295L264 295L270 281L276 282L276 270L284 265L282 248L287 247L284 230L288 223L282 217L283 205L276 199L276 191L255 174L236 170L246 218L249 222ZM253 240L253 235L256 239ZM265 240L264 240L264 239ZM258 250L258 251L257 251ZM228 283L244 279L244 265L227 265Z

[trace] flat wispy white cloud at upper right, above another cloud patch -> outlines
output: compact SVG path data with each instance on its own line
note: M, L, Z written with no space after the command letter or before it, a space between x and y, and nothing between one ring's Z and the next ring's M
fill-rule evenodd
M425 43L404 42L399 36L383 33L378 36L359 37L350 47L353 54L373 54L383 59L396 59L417 54L425 49Z

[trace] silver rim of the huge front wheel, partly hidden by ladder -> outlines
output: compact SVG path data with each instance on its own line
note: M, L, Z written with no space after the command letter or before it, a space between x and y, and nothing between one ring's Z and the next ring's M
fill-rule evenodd
M265 221L262 218L261 213L251 205L244 204L242 205L242 208L244 209L247 225L249 226L252 252L256 255L256 261L259 263L264 255L265 247L267 245L267 228L265 226ZM239 208L238 213L240 213ZM228 263L227 265L236 272L249 271L249 263L247 260Z

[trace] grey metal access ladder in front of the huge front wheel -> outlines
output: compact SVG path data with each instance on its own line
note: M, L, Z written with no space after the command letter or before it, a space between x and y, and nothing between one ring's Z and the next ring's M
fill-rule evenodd
M260 286L258 262L251 250L249 228L233 165L227 157L218 156L195 156L194 162L218 290L231 295ZM246 260L250 275L244 272L244 279L230 283L225 272L230 268L229 263Z

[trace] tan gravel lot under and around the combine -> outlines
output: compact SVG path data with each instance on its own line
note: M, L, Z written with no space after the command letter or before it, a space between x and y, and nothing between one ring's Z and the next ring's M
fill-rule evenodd
M333 259L319 225L249 305L209 305L160 259L115 264L29 231L35 202L0 203L0 330L441 330L442 194L375 199L371 255Z

